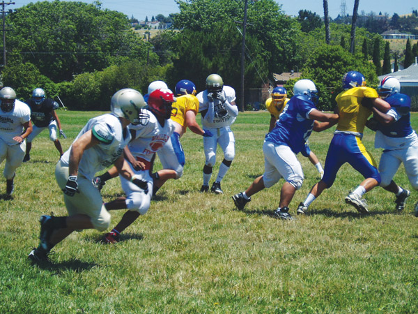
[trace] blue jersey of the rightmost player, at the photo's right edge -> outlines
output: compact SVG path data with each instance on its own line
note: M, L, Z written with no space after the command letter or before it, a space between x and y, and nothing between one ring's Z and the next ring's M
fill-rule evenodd
M396 93L385 98L385 100L391 106L391 110L396 111L397 117L395 117L396 121L393 124L389 124L389 126L380 125L378 130L388 137L406 137L410 135L413 132L408 110L411 106L411 98L408 95ZM408 114L403 113L405 109L408 111ZM389 110L388 114L390 114L391 110ZM397 119L398 117L400 119Z

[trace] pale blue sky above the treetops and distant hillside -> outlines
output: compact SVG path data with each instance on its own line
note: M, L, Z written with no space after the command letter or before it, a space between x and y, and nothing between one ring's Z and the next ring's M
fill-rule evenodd
M170 13L178 13L178 6L174 0L99 0L102 3L102 8L109 10L116 10L124 13L128 17L134 15L138 20L145 20L154 15L162 14L169 15ZM346 1L346 13L353 14L354 0ZM15 0L15 5L7 6L10 8L19 8L28 3L36 2L29 0ZM92 1L82 1L86 3L93 3ZM299 10L311 10L318 15L323 16L323 0L277 0L277 3L282 5L282 10L288 15L297 15ZM335 18L341 12L341 0L328 0L328 8L330 11L330 17ZM412 9L418 9L417 0L360 0L359 13L370 13L373 11L378 14L379 12L388 13L392 16L394 13L403 15L411 13Z

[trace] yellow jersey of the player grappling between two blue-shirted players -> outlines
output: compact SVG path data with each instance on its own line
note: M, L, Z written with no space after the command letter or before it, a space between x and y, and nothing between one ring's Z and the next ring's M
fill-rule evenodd
M363 98L378 98L378 92L370 87L354 87L338 94L335 98L339 109L337 131L363 133L371 110L362 105Z

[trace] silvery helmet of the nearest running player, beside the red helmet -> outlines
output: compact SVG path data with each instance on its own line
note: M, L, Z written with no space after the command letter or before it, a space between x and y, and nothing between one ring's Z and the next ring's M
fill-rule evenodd
M148 124L150 116L145 110L144 97L134 89L116 91L110 100L110 110L116 117L125 118L131 124Z

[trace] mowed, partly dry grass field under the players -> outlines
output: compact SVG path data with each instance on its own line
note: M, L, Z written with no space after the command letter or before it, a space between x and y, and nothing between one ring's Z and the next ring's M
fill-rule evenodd
M59 111L68 135L64 149L98 114ZM263 173L269 119L267 112L239 114L224 195L199 193L203 141L188 130L183 177L167 182L120 243L102 244L96 230L75 232L54 248L53 264L38 266L27 259L38 245L38 218L66 214L54 179L58 152L47 131L41 133L31 160L17 170L13 199L1 194L0 313L417 313L416 191L398 214L394 195L375 188L366 194L371 213L360 216L344 197L362 176L344 165L310 216L290 222L272 216L283 181L235 210L231 195ZM417 128L418 114L412 120ZM322 163L333 130L311 135ZM373 139L366 130L364 144L378 161ZM306 179L291 214L318 181L316 168L298 158ZM212 180L221 161L219 149ZM395 179L411 190L403 166ZM119 180L108 181L102 195L104 201L123 195ZM111 227L124 212L111 211Z

